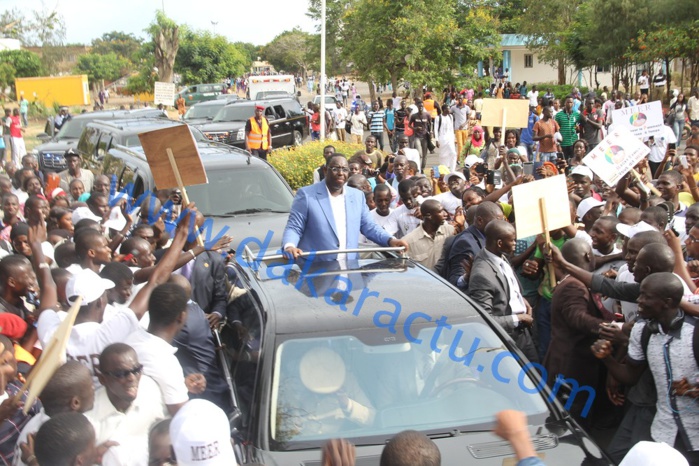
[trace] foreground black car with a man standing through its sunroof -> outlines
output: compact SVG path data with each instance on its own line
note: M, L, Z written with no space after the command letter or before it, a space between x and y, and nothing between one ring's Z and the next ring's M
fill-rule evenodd
M227 346L240 465L319 465L333 438L356 445L356 464L378 465L407 429L433 439L444 466L514 464L491 432L503 409L527 414L548 466L611 464L507 333L435 273L379 254L345 264L238 256Z

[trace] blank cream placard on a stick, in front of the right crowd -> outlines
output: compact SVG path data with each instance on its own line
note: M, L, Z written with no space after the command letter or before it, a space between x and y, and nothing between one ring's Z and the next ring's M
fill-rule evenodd
M544 233L540 199L546 199L546 220L550 230L571 224L568 185L565 175L552 176L512 188L512 200L517 212L517 239Z

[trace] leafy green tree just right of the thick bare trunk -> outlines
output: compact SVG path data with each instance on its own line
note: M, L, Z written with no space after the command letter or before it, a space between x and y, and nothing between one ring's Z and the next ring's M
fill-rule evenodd
M183 84L218 82L245 72L246 56L238 47L210 32L185 30L175 70Z

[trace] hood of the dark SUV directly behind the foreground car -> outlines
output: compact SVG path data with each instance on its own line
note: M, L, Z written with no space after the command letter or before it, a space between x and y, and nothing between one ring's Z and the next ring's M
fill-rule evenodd
M235 249L236 255L240 257L245 246L253 252L264 247L267 254L277 253L282 245L282 234L289 214L258 212L232 217L207 217L213 220L213 232L210 238L215 238L225 227L228 227L226 234L233 237L230 248ZM260 246L261 244L264 246Z

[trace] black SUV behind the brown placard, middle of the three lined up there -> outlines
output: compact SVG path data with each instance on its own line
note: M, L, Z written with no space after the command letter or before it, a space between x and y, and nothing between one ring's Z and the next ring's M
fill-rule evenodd
M93 121L85 126L80 136L78 152L86 157L85 160L89 161L90 168L95 169L99 167L110 148L116 145L140 147L141 140L138 139L140 133L177 125L184 125L184 123L167 118ZM192 130L192 134L197 141L209 142L196 129Z

